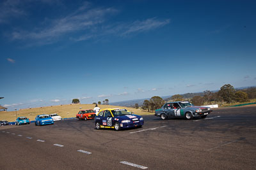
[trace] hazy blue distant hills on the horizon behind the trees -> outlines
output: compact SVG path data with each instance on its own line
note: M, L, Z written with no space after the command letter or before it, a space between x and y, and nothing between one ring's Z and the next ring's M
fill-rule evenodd
M250 86L250 87L256 87L256 86ZM243 90L243 89L248 89L250 87L238 87L235 88L236 90ZM211 90L211 92L218 92L219 90ZM186 94L180 94L184 99L190 99L195 96L204 96L204 92L195 92L195 93L186 93ZM162 96L162 99L164 101L169 101L172 96ZM115 106L125 106L125 107L134 107L136 103L141 106L145 100L149 100L150 98L145 98L145 99L134 99L134 100L129 100L129 101L118 101L114 103L109 103L111 105Z

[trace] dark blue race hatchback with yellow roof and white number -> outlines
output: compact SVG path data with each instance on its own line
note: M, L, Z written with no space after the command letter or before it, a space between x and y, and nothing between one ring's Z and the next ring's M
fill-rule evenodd
M129 127L141 127L144 120L123 108L104 109L95 117L96 129L110 128L119 131Z

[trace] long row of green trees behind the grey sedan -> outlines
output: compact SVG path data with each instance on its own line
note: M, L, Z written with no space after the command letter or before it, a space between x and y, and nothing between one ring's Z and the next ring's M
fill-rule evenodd
M196 95L196 96L195 96ZM220 90L216 92L211 92L210 90L205 90L202 93L188 93L186 95L175 94L172 97L163 100L159 96L151 97L150 100L145 100L141 106L141 109L147 111L154 111L161 108L164 103L170 101L190 101L196 106L202 106L205 103L244 103L250 101L250 99L256 98L256 87L250 87L248 89L236 90L230 84L223 85ZM134 108L139 108L136 103Z

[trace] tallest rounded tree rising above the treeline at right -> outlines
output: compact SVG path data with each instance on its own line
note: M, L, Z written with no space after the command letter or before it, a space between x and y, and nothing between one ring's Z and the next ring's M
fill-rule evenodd
M232 100L234 100L235 91L236 90L232 85L227 84L223 85L223 87L220 88L219 93L223 101L226 101L227 103L232 103Z

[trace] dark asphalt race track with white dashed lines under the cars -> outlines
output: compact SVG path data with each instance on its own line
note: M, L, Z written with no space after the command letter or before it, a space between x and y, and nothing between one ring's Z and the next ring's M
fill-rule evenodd
M0 169L256 169L255 106L143 118L125 131L97 131L93 120L2 126Z

